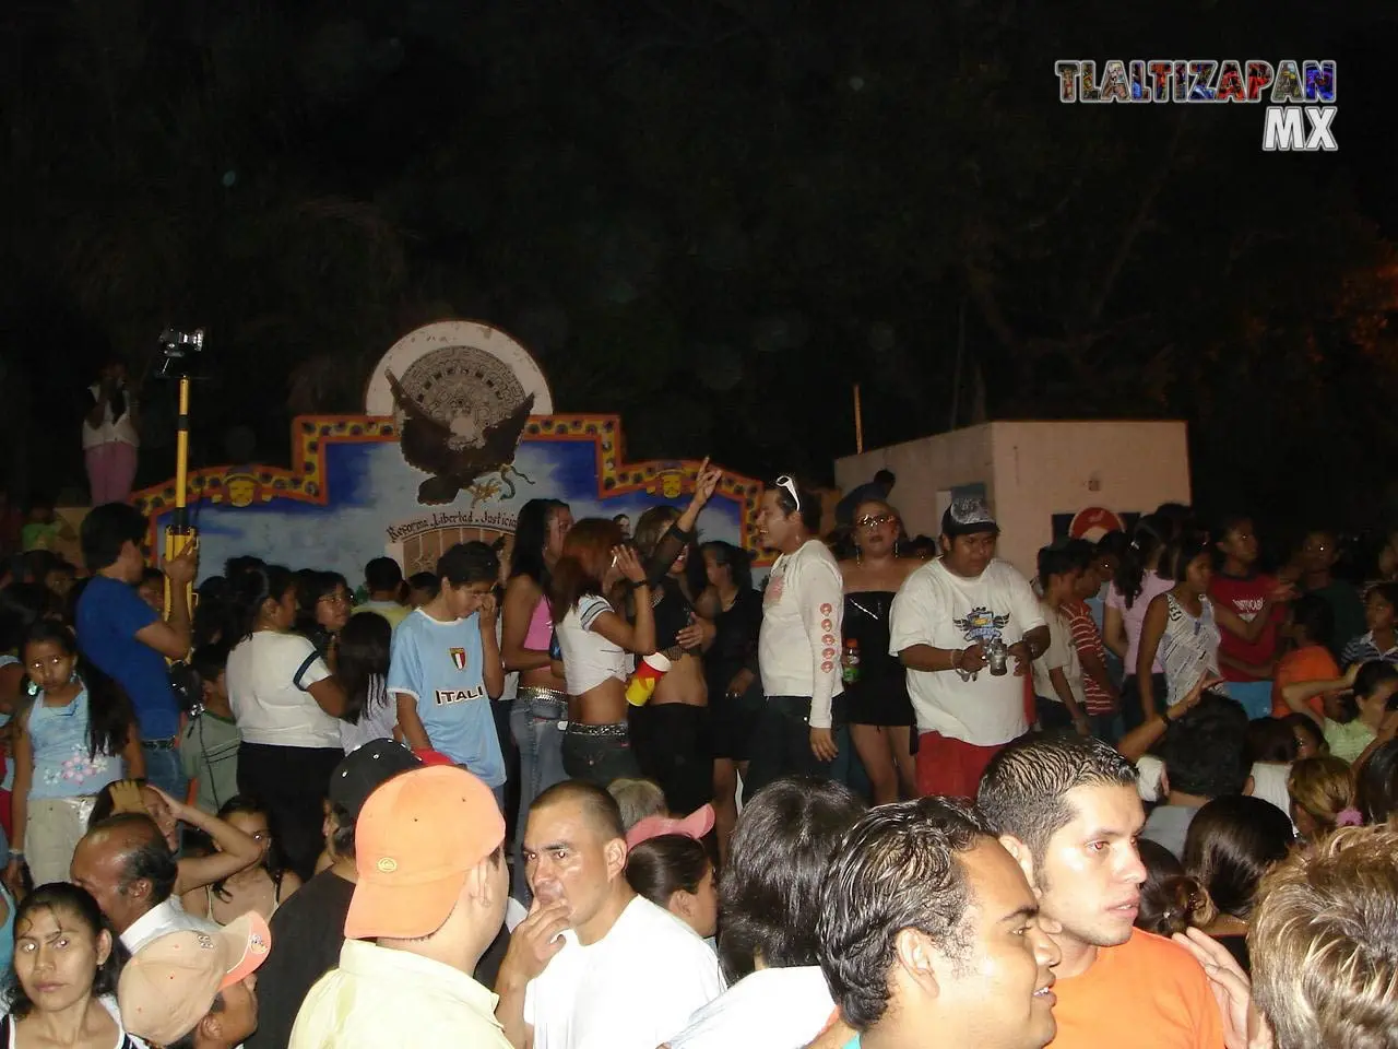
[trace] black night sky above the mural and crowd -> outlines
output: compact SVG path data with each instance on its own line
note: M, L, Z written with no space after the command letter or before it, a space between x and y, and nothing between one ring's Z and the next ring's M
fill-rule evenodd
M354 411L397 337L470 317L636 456L828 481L858 382L870 446L1187 418L1201 502L1398 520L1392 4L60 0L0 25L17 494L81 488L88 373L141 373L165 324L210 333L201 464L285 462L292 414ZM1262 106L1057 101L1058 59L1159 57L1334 59L1339 152L1264 154ZM145 403L152 481L172 413Z

